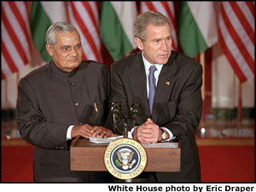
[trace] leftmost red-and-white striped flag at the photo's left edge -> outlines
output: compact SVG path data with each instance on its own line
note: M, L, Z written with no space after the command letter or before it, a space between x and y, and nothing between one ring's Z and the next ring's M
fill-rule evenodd
M26 2L1 2L1 79L31 60L28 18Z

